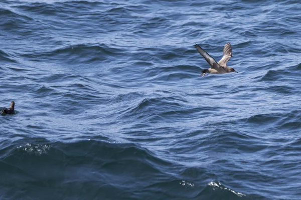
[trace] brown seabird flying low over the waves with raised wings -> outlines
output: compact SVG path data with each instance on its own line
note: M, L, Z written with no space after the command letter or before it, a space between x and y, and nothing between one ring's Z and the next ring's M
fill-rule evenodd
M198 44L194 45L198 52L205 58L208 64L211 66L209 69L203 69L202 73L229 73L229 72L237 72L234 68L228 67L227 62L232 57L232 47L230 42L224 45L224 55L222 59L217 62L215 59L209 55L201 46ZM237 72L238 73L238 72Z

